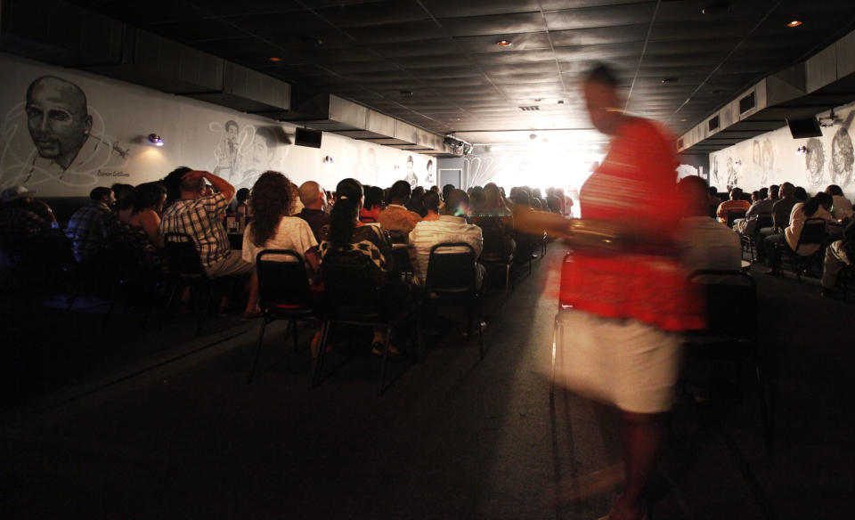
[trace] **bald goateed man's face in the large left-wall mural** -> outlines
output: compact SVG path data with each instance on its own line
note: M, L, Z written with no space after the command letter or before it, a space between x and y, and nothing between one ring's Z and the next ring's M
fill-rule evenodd
M59 77L39 77L29 85L26 111L38 155L68 168L92 130L85 93Z

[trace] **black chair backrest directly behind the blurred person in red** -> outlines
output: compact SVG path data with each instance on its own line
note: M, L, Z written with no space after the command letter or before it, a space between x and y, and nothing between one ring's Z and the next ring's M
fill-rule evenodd
M756 336L757 285L751 274L704 269L692 272L688 281L704 293L707 332L739 339Z

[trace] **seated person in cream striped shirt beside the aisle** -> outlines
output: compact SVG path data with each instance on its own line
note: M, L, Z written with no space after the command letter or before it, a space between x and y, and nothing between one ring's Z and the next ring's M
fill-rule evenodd
M465 191L451 191L445 199L445 208L439 220L420 222L410 233L410 243L415 249L417 260L413 267L420 285L424 286L428 276L430 248L444 242L466 242L472 246L476 260L476 287L481 288L484 284L485 268L477 264L478 256L481 256L481 250L484 248L484 237L481 234L481 228L475 224L466 223L468 202Z

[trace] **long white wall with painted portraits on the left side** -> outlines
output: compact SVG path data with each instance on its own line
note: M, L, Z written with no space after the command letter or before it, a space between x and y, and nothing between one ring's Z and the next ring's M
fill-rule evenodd
M0 53L0 70L0 189L24 184L40 196L85 196L94 186L154 181L179 166L216 170L239 187L251 187L268 169L295 183L318 181L330 190L351 176L388 186L405 178L410 157L419 183L435 183L428 179L428 161L435 179L436 159L418 153L326 133L321 149L295 146L288 143L294 139L293 125L5 53ZM93 120L65 170L39 156L28 130L28 85L43 76L77 85ZM228 121L238 125L231 146ZM151 146L145 139L150 133L160 134L165 145ZM333 158L331 164L323 162L326 156Z

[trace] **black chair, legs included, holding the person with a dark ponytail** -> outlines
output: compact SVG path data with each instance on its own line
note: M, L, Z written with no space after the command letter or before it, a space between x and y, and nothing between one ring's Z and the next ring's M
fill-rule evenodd
M330 252L322 260L321 276L323 329L318 357L314 364L312 387L321 382L324 353L333 326L377 326L386 329L378 390L378 394L383 394L386 390L392 318L385 312L379 284L374 278L371 258L356 251Z

